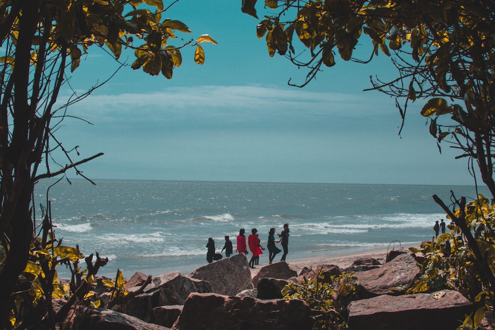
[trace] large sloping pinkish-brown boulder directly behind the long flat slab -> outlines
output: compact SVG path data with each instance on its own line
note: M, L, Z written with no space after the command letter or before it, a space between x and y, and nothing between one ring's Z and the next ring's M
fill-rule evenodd
M355 273L358 285L356 295L359 299L366 299L381 294L401 294L403 292L392 291L392 287L411 287L419 276L419 271L411 255L400 254L380 268Z

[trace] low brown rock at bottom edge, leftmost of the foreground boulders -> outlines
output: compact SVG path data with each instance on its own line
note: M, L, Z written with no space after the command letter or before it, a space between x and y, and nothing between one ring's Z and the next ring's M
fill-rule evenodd
M159 325L104 308L77 306L62 323L61 330L170 330Z

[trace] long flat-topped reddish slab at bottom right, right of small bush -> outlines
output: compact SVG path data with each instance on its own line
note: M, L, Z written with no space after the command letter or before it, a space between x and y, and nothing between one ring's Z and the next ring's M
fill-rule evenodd
M380 295L351 302L347 323L352 330L456 329L458 320L471 313L472 308L469 300L453 290Z

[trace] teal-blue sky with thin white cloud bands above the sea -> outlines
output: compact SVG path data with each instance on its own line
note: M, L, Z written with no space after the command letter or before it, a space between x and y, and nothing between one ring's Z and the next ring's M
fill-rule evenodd
M419 111L410 104L401 118L395 100L370 88L370 75L395 77L390 59L370 64L337 61L304 88L306 71L286 58L269 57L257 39L254 17L241 0L180 0L163 18L186 23L171 44L209 34L205 63L194 48L182 49L173 78L120 69L89 97L69 108L56 132L74 161L104 155L79 166L91 179L304 182L350 184L472 185L465 159L447 144L442 154ZM264 12L258 1L258 14ZM165 5L171 1L164 1ZM181 40L181 38L183 40ZM364 45L356 50L368 56ZM130 65L133 54L121 61ZM70 85L81 93L106 80L118 63L90 47ZM59 99L67 97L62 92ZM90 122L88 124L87 122ZM59 158L61 164L67 163ZM75 177L74 172L68 174Z

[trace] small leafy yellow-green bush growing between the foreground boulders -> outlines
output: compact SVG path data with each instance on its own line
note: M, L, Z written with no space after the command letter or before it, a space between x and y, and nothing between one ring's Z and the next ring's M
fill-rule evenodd
M300 283L287 284L282 290L284 299L300 299L309 305L315 320L313 329L346 329L339 298L355 291L357 278L349 273L332 275L330 281L324 281L323 269L311 272L312 276L304 276Z

